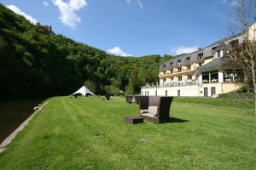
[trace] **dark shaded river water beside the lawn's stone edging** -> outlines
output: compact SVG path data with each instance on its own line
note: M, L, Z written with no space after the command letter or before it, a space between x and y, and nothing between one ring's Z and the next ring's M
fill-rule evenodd
M42 101L43 99L29 99L0 102L0 143L32 115L33 108Z

